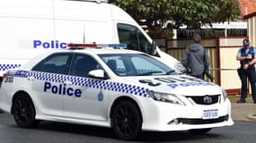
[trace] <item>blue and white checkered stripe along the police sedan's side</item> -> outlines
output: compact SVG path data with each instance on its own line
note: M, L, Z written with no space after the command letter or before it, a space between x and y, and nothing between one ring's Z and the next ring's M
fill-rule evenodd
M76 86L83 86L88 88L101 88L110 91L128 93L132 95L137 95L141 97L147 97L146 91L147 88L142 88L134 85L119 83L119 82L112 82L112 81L105 81L105 80L95 80L89 78L82 78L82 77L75 77L75 76L68 76L68 75L60 75L54 73L47 73L47 72L39 72L39 71L16 71L16 73L21 74L14 74L14 76L19 75L18 77L34 77L37 80L44 80L44 81L54 81L62 83L63 81L69 80Z

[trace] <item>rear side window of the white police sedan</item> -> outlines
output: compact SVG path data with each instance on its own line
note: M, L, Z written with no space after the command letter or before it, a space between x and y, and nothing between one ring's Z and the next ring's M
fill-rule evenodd
M70 55L71 54L69 53L49 55L47 58L34 66L32 71L67 74L67 65L70 59Z

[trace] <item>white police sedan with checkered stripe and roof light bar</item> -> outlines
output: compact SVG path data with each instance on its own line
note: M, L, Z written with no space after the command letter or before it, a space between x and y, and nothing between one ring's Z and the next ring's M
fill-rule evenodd
M127 140L141 130L205 133L234 124L225 90L123 49L51 51L7 71L0 107L22 128L40 120L84 123Z

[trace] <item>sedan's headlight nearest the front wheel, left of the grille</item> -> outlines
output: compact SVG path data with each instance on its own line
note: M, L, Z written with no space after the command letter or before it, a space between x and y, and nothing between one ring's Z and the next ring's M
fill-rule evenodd
M181 99L175 95L161 93L161 92L154 92L154 91L147 91L149 97L153 98L155 101L167 102L174 105L185 105Z

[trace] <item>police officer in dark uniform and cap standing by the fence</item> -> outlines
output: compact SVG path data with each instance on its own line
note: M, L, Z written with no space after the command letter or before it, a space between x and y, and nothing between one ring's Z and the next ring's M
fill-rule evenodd
M245 98L247 97L247 78L250 80L251 88L252 88L252 98L254 104L256 104L256 75L255 75L255 67L256 63L256 48L250 46L250 42L248 38L243 39L243 47L238 50L236 55L236 60L240 61L240 68L237 70L238 75L240 77L242 88L241 88L241 97L237 101L237 103L245 103Z

